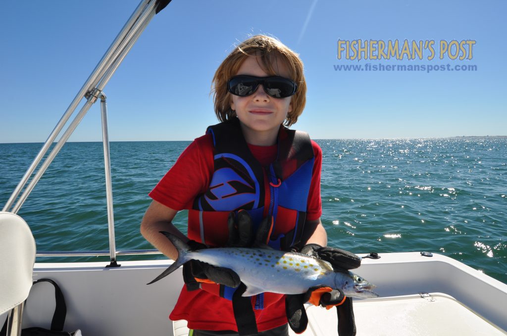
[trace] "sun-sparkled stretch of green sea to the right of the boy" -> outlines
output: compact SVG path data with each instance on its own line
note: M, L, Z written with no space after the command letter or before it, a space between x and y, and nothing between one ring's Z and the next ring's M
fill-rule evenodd
M319 144L322 220L335 224L330 244L363 253L438 251L507 282L506 138ZM345 222L355 228L337 225Z

